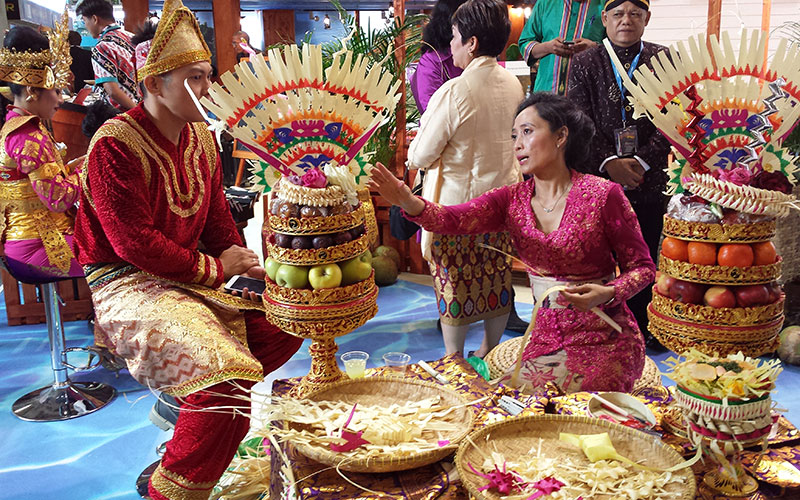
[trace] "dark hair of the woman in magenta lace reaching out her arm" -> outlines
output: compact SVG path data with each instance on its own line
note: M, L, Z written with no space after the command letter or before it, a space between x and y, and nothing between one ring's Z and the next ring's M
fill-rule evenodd
M564 146L564 161L569 168L583 171L584 159L589 154L594 137L592 119L566 97L550 92L534 92L529 95L520 103L516 114L519 115L531 106L547 122L551 131L567 128L569 134Z

